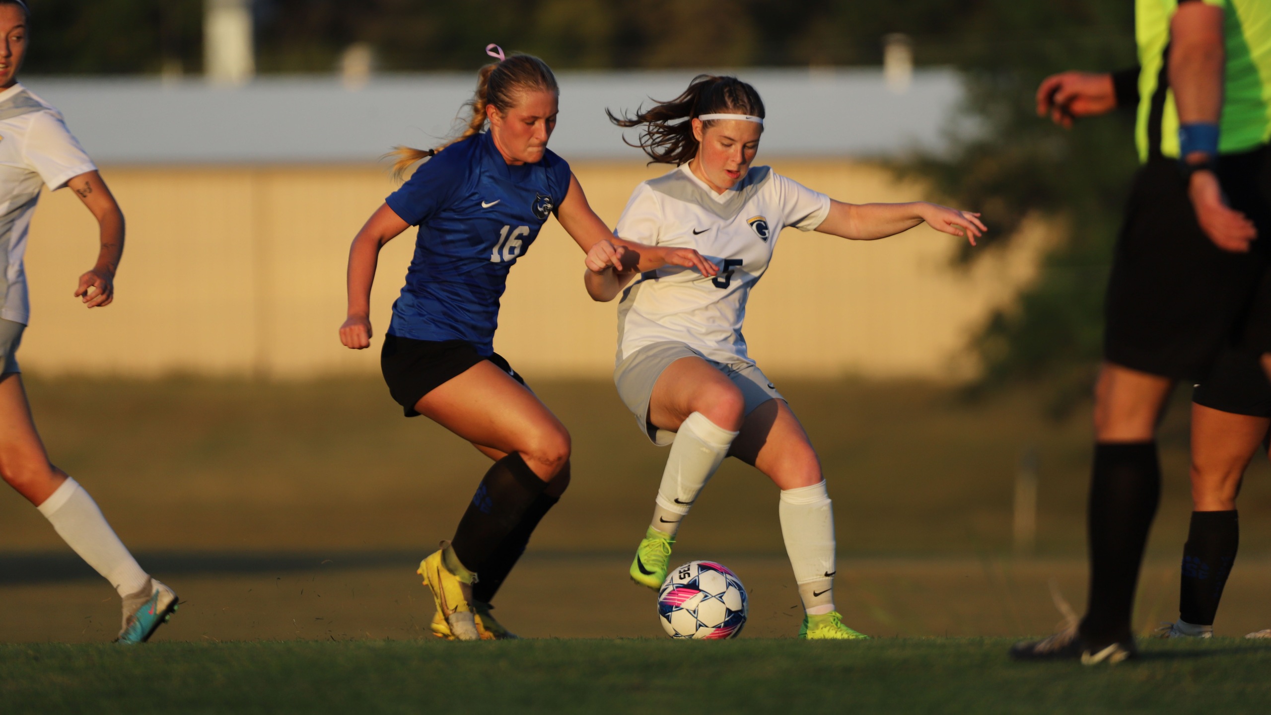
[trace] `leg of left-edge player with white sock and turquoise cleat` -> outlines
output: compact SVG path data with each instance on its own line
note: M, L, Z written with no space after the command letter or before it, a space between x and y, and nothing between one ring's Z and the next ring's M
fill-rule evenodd
M0 476L39 509L123 599L119 642L144 642L177 609L177 594L153 580L75 480L48 461L36 431L20 373L0 375Z

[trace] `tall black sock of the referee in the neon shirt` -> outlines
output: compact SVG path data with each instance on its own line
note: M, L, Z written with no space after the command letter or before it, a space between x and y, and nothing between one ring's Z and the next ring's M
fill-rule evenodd
M1131 637L1134 590L1159 501L1155 441L1094 445L1087 517L1091 593L1080 627L1092 645Z

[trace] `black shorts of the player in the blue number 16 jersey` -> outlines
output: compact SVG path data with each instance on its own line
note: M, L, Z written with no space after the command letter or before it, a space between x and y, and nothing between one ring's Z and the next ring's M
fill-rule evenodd
M482 360L489 360L512 379L525 384L525 379L516 374L502 355L482 355L466 340L414 340L386 335L380 351L380 369L389 385L389 394L402 406L407 417L419 416L414 406L421 397Z

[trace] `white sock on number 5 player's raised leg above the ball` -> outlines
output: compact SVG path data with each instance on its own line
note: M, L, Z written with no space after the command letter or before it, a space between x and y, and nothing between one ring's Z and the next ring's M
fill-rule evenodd
M735 439L737 433L721 427L702 412L694 412L684 420L671 443L671 454L666 458L666 471L657 487L657 504L649 525L671 536L680 531L680 522L697 501L702 487L707 486L719 463L728 455Z

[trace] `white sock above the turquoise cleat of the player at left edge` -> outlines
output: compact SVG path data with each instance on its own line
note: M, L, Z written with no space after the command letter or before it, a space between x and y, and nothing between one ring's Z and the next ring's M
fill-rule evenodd
M75 480L66 477L62 486L37 509L53 524L57 536L111 581L121 597L132 595L150 580L150 575L141 570L119 537L114 536L111 524L105 523L97 503Z

